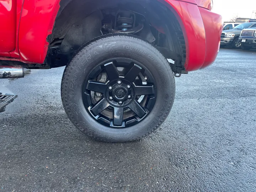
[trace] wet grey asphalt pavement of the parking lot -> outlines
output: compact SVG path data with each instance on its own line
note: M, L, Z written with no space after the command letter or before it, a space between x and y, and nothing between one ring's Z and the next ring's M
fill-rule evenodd
M256 191L256 50L220 49L176 78L156 133L103 143L77 130L60 97L64 68L1 80L0 191Z

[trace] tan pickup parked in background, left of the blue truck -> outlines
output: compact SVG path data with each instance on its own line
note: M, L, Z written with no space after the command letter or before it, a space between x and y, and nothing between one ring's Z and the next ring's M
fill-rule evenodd
M232 46L233 48L240 48L241 43L239 42L239 36L241 31L246 28L256 27L256 22L249 22L249 23L241 23L238 26L235 26L231 30L223 31L220 36L220 47L225 47L227 45Z

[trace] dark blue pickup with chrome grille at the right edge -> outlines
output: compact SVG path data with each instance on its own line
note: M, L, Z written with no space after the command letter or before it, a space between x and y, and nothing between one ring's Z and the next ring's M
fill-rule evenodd
M241 48L244 50L256 47L256 27L242 30L239 42L241 43Z

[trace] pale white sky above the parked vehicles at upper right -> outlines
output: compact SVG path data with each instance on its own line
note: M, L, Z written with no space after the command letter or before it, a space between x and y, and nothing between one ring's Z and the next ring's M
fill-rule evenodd
M223 21L229 21L236 15L251 18L254 10L256 11L256 0L213 0L213 11L222 15Z

